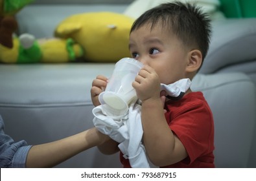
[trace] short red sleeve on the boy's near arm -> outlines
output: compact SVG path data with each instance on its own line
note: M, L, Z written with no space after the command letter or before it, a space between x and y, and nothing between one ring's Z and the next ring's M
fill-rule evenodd
M204 102L188 105L170 128L184 145L190 163L213 151L213 117Z

